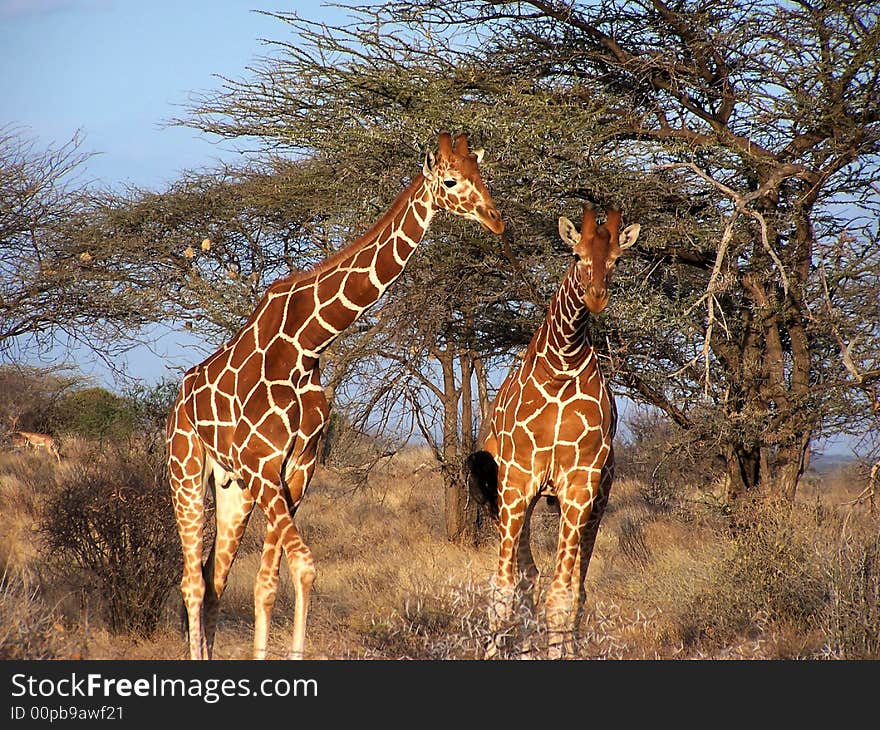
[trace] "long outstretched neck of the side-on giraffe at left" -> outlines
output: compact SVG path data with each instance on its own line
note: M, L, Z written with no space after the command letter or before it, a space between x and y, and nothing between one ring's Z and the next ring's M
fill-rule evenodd
M361 238L298 275L287 300L285 333L317 357L403 272L436 213L419 174ZM303 318L303 308L311 312Z

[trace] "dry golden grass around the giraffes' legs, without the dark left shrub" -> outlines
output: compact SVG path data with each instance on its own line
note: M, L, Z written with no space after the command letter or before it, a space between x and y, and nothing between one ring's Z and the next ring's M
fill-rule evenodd
M39 534L43 505L81 456L60 466L38 454L0 455L0 559L18 583L0 595L4 651L34 657L184 658L180 599L172 591L149 639L113 635L71 587L47 584ZM497 541L477 548L443 535L439 474L412 449L380 464L366 484L318 469L297 514L318 575L308 658L472 659L488 636L489 578ZM826 479L826 478L823 478ZM825 486L823 487L822 484ZM790 511L766 505L732 531L718 485L658 503L618 480L587 578L578 658L880 658L878 520L846 501L845 479L813 482ZM810 491L812 490L812 491ZM818 498L817 496L818 495ZM218 659L251 655L253 579L264 528L255 513L221 603ZM552 573L555 514L539 506L533 551ZM40 582L40 580L44 582ZM286 567L269 656L285 655L293 594ZM9 639L12 618L31 626ZM506 656L546 656L540 615L513 626ZM12 647L12 648L8 648Z

